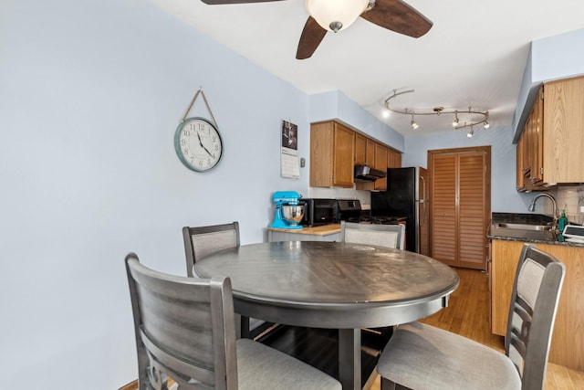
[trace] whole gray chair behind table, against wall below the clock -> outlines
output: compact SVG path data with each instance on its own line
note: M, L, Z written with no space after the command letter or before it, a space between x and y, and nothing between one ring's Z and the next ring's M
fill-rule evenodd
M204 258L222 249L239 247L239 223L211 225L206 227L183 227L186 274L193 276L193 266L197 258ZM237 336L253 337L265 331L271 324L254 318L235 315L241 324Z

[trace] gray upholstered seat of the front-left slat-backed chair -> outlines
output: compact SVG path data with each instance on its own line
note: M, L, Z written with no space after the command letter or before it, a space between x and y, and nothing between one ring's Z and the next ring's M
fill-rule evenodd
M239 390L341 389L328 374L262 343L239 339L235 348Z

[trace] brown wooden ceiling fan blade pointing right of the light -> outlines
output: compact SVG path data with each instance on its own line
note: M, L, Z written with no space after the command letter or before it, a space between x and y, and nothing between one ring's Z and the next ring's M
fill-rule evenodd
M401 0L376 0L375 6L361 17L371 23L409 37L422 37L433 23Z

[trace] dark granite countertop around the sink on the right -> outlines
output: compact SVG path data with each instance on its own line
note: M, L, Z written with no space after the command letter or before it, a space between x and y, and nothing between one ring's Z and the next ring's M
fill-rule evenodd
M497 226L500 223L547 225L552 221L553 219L551 216L544 216L541 214L493 213L491 216L491 227L486 233L486 237L488 239L502 239L507 241L533 242L539 244L584 248L584 244L581 243L558 241L558 235L548 230L522 230Z

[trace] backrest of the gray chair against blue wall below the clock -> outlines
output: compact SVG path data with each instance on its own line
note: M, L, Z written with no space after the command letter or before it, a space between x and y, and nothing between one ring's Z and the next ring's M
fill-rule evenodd
M186 274L193 276L197 258L204 258L218 250L239 247L239 223L209 227L183 227Z

